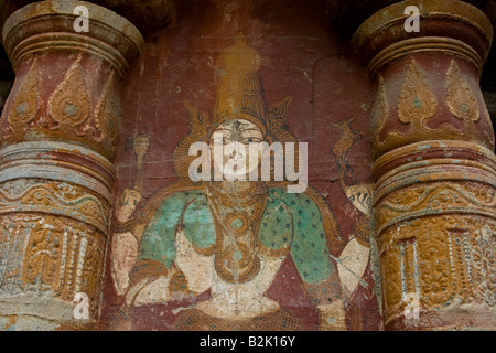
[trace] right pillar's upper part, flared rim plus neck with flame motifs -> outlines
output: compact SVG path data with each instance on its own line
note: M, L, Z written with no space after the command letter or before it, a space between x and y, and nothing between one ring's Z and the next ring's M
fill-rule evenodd
M407 32L408 6L420 11ZM457 0L405 1L375 13L355 32L355 52L378 82L371 117L374 157L423 140L463 140L494 149L492 121L478 86L493 28Z

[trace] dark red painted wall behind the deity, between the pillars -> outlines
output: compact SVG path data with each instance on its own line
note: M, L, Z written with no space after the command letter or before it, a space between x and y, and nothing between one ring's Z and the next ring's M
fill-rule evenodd
M236 35L242 34L247 44L260 54L259 74L267 105L270 107L287 96L293 98L288 125L300 142L309 143L309 182L327 200L343 234L348 237L358 211L347 201L338 182L338 168L331 149L342 137L342 130L333 124L354 118L351 127L360 139L346 156L347 183L369 181L368 129L375 86L355 58L347 39L332 29L325 0L254 0L238 8L230 2L176 1L174 23L160 32L144 33L147 50L131 66L121 90L117 193L134 183L136 158L132 150L126 150L126 141L140 131L145 131L151 139L145 156L144 196L150 197L161 186L176 180L172 154L190 129L183 101L188 100L200 110L213 113L217 56L234 44ZM278 276L269 297L277 298L292 311L305 329L317 330L316 311L301 284L291 280L294 272L292 261L284 263L280 275L287 276ZM365 275L367 287L359 286L347 300L348 329L377 330L380 327L373 277L369 265ZM195 300L202 300L202 297ZM110 266L107 265L104 329L115 321L115 301ZM174 319L171 310L184 306L181 302L136 309L133 329L166 330Z

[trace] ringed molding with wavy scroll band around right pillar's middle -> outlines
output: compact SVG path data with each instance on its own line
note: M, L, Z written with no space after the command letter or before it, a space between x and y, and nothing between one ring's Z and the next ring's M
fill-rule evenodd
M494 217L496 157L457 141L411 145L376 163L376 229L433 214ZM384 163L384 164L382 164ZM376 174L377 175L377 174Z

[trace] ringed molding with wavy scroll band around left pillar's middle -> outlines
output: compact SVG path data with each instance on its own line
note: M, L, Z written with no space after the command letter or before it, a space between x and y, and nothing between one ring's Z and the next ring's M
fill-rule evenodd
M0 150L0 214L65 215L107 233L116 171L104 157L63 142L23 142Z

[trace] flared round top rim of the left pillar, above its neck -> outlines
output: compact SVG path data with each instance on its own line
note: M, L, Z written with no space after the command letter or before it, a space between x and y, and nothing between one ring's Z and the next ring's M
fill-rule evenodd
M78 6L88 9L88 31L76 32ZM121 75L144 49L140 32L125 18L85 1L41 1L15 11L3 25L3 45L17 71L23 58L72 51L108 62Z

